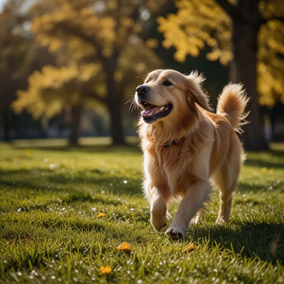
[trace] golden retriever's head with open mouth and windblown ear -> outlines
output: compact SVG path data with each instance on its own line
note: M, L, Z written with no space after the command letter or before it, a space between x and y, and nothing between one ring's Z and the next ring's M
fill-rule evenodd
M144 122L176 123L188 112L197 114L198 106L211 110L208 97L201 88L204 81L197 72L185 76L175 70L155 70L143 85L136 88L135 101L143 108Z

